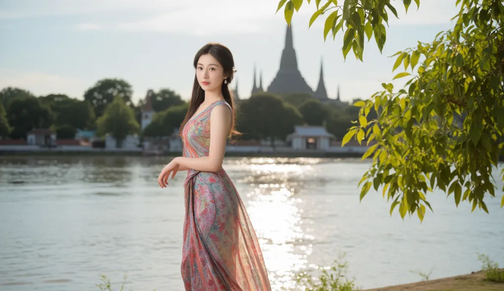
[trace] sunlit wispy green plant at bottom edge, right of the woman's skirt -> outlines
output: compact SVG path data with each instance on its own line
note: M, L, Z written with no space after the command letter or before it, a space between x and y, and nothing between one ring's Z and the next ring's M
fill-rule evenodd
M355 279L348 279L347 262L342 262L340 259L334 261L331 267L314 267L313 270L303 271L296 275L296 282L299 284L299 289L304 291L356 291ZM315 270L322 269L322 274L318 277L313 277L310 273Z

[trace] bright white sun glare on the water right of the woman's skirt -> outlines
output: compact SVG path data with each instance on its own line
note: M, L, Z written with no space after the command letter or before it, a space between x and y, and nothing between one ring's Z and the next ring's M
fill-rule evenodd
M306 256L311 253L312 236L301 229L301 199L294 197L296 180L310 167L293 164L270 164L276 159L257 159L249 166L258 178L249 177L255 189L247 194L250 199L247 211L261 241L261 248L270 272L274 290L295 287L294 274L306 266ZM268 160L269 163L264 163ZM261 183L268 182L268 183ZM297 183L295 183L297 184Z

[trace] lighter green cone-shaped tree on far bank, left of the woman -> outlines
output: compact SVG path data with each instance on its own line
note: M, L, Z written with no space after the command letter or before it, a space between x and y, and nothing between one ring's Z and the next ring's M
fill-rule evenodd
M122 141L128 134L140 130L140 124L135 119L133 109L124 103L123 96L117 95L110 103L103 115L96 121L98 135L110 133L116 141L116 147L122 146Z

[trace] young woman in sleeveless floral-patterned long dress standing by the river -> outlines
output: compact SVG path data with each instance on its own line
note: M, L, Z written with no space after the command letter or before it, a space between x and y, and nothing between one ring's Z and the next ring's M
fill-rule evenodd
M187 170L181 272L186 290L271 290L245 206L222 168L226 139L238 132L228 85L234 60L221 44L194 58L191 104L180 126L183 157L163 168L159 185Z

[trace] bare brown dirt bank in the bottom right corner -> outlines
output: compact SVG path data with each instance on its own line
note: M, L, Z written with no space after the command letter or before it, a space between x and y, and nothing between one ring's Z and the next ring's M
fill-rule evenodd
M504 269L503 269L504 270ZM504 291L504 283L485 281L483 272L365 291Z

